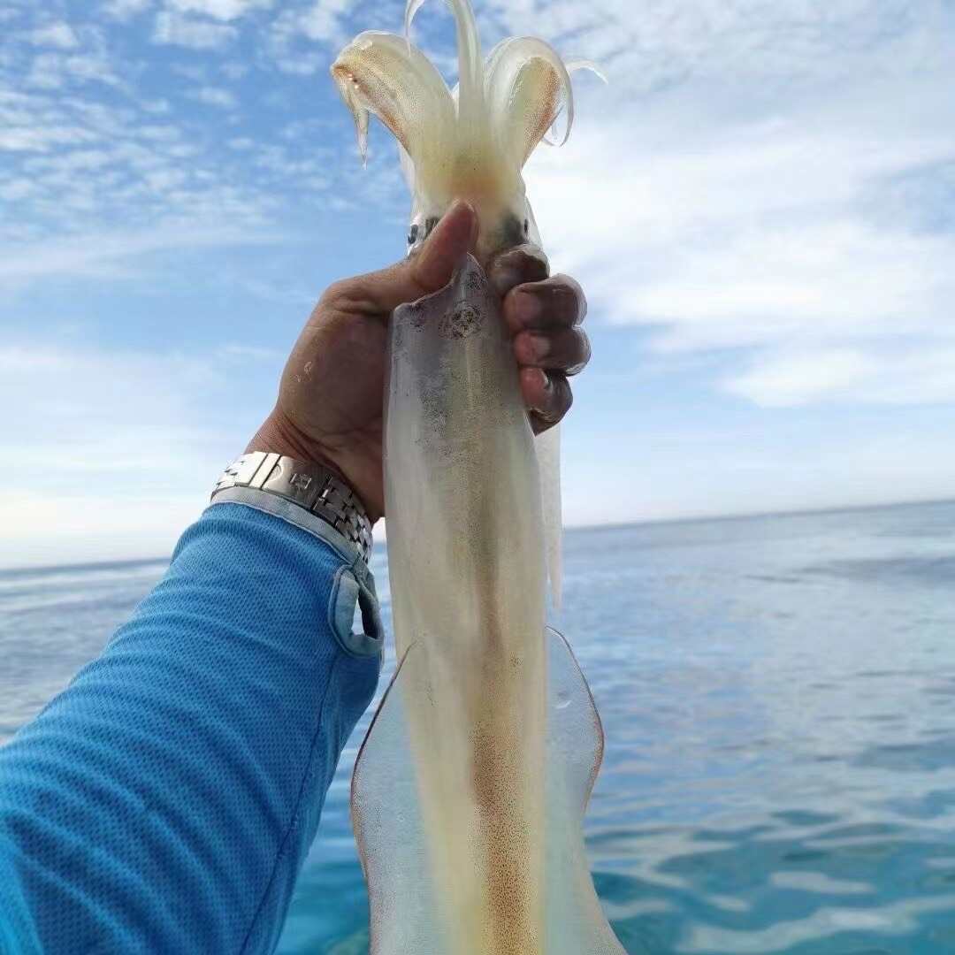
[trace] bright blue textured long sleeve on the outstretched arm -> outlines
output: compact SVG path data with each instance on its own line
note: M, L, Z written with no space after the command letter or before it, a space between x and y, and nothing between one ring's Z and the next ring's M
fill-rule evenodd
M380 668L343 579L356 599L340 551L241 503L186 531L129 623L0 749L0 952L274 949Z

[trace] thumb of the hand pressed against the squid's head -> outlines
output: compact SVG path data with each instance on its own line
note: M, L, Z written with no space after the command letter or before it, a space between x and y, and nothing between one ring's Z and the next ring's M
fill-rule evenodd
M469 202L458 200L435 225L420 251L355 281L361 284L363 298L381 311L392 311L446 286L476 243L477 213Z

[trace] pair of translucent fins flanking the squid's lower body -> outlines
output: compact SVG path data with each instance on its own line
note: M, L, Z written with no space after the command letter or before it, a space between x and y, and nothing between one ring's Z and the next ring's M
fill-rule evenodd
M584 811L604 752L600 717L584 674L556 631L548 631L547 653L543 952L625 955L606 922L584 850ZM454 886L435 886L431 876L403 699L408 688L420 691L425 670L425 651L412 647L371 723L351 783L352 822L371 904L371 955L483 951L475 941L456 937L463 926L446 923L442 899Z

